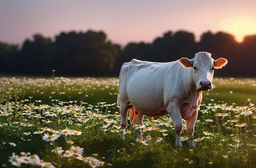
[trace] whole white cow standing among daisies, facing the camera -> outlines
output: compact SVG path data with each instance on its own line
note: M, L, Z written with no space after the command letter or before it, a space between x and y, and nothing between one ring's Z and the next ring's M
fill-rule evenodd
M127 126L127 112L134 125L143 125L143 117L169 114L176 134L175 146L182 147L180 133L182 119L186 120L189 145L195 148L193 133L202 91L212 89L214 69L227 64L225 58L214 60L211 53L199 52L191 60L181 58L174 62L147 62L133 59L123 64L119 75L118 104L121 127ZM140 129L135 129L143 139ZM124 139L124 136L123 136Z

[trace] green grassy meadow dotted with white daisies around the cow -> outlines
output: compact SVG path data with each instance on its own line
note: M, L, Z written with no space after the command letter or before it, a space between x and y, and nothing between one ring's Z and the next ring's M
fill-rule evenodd
M197 148L175 148L172 120L144 118L144 141L120 128L118 78L0 78L2 167L252 167L256 165L256 80L214 78L203 92ZM123 141L121 135L125 134Z

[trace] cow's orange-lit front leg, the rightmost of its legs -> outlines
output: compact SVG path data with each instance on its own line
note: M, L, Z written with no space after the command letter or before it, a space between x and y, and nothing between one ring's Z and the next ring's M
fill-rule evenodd
M193 112L192 116L186 120L186 132L189 134L189 147L195 149L196 146L193 141L193 135L195 130L195 122L198 117L198 108Z

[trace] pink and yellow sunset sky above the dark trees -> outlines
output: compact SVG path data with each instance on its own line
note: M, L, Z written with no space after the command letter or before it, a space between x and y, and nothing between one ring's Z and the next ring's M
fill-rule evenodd
M238 42L256 34L256 0L0 0L0 42L22 44L34 34L103 31L121 46L153 42L168 31L211 31Z

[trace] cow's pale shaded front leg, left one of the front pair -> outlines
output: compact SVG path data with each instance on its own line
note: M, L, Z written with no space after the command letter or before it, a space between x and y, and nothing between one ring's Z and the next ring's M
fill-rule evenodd
M173 104L169 104L167 110L168 110L168 113L169 113L171 119L173 120L173 127L174 127L175 135L176 135L175 146L182 147L182 143L180 140L180 133L183 128L182 115L180 113L179 108L173 108L175 106L172 106L172 105ZM172 109L174 109L174 110L172 110Z

